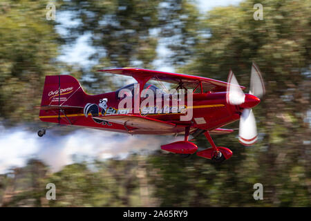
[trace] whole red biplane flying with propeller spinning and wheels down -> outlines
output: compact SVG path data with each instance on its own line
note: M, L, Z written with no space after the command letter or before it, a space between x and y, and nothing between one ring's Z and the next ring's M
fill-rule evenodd
M115 92L101 95L87 95L77 79L70 75L46 76L44 91L41 100L39 119L43 122L84 126L104 131L115 131L129 134L156 134L156 135L185 135L185 140L162 145L161 148L182 156L195 153L196 144L189 142L189 135L197 137L204 133L211 144L211 148L196 153L200 157L223 162L232 157L232 151L223 146L216 146L210 134L227 134L233 130L221 128L240 119L239 141L245 146L251 146L257 140L256 122L252 107L256 106L265 93L261 73L258 67L252 65L252 75L249 93L243 93L245 87L239 86L238 81L230 70L228 82L175 73L164 73L156 70L140 68L117 68L99 70L116 75L133 77L138 84L129 84ZM149 80L156 80L177 84L177 89L184 89L189 93L192 89L192 104L186 99L185 110L192 111L191 119L181 121L180 116L185 111L177 113L163 111L135 113L134 106L119 108L124 97L119 97L120 90L127 89L135 97L135 86L138 88L139 104L144 101L143 89L158 93L159 88L147 84ZM138 86L139 85L139 86ZM138 87L137 87L138 86ZM163 86L163 84L162 84ZM162 97L165 95L162 91ZM171 95L167 95L167 104L173 108ZM185 96L186 97L186 96ZM156 107L163 107L163 100L155 98ZM149 106L146 106L149 108ZM154 110L154 107L151 107ZM161 108L157 110L162 110ZM171 110L171 109L169 109ZM187 112L186 111L186 112ZM46 133L42 128L38 135Z

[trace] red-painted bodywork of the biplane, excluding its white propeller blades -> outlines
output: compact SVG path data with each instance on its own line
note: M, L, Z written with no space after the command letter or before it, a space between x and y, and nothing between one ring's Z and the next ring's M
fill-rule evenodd
M117 97L117 92L88 95L74 77L54 75L46 76L39 113L41 121L130 134L164 135L182 133L185 134L185 141L166 144L161 148L173 153L186 154L195 153L198 148L196 144L188 142L189 134L194 133L196 129L202 129L207 131L205 136L212 147L198 152L197 155L211 159L214 151L221 151L227 160L232 156L232 151L225 147L216 146L208 131L211 131L211 133L213 131L218 133L232 132L230 130L222 131L220 127L238 120L240 118L240 108L256 106L260 102L260 99L254 95L246 94L245 104L240 106L227 104L227 83L205 77L163 73L138 68L104 71L134 77L140 85L140 92L149 79L158 79L171 83L182 81L184 86L190 88L196 88L200 85L201 93L193 96L193 118L189 122L180 122L181 113L140 115L139 112L134 113L134 106L132 106L131 114L117 113L117 111L114 113L123 99ZM245 87L241 86L241 88L244 89ZM142 100L138 99L139 102L142 102ZM157 104L155 97L155 105L160 104L162 106L163 101ZM172 104L171 100L169 104ZM185 96L185 105L187 105L187 96ZM106 109L102 108L102 106ZM206 123L197 124L195 119L199 117L204 118Z

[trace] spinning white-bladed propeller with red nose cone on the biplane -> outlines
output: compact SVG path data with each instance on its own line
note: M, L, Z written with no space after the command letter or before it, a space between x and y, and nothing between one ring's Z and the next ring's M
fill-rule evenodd
M227 103L238 105L240 108L243 108L240 118L238 140L245 146L252 146L257 140L256 120L252 112L252 107L256 106L261 101L259 97L265 94L265 86L263 84L261 72L256 64L253 63L248 94L243 93L232 70L229 72L228 83Z

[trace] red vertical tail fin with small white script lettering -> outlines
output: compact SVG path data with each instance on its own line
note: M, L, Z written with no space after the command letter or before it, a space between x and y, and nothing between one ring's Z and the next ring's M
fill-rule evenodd
M75 77L46 76L41 106L82 106L86 93Z

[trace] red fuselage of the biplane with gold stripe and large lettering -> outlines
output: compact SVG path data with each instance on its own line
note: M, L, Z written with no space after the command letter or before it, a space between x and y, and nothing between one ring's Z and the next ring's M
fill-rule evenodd
M101 103L103 99L105 101L105 104ZM99 117L104 115L129 114L129 112L131 112L130 110L127 110L126 108L118 108L121 100L122 99L117 97L116 92L111 92L100 95L84 95L80 97L79 103L83 106L86 106L86 104L96 104L98 106ZM142 100L140 102L142 102ZM236 121L240 118L241 113L239 106L227 104L225 92L193 94L192 106L187 104L186 99L185 106L187 106L187 109L192 109L193 117L191 118L191 120L185 122L180 121L180 116L185 115L185 113L180 113L180 109L178 110L178 107L173 106L171 100L169 101L169 107L166 108L169 108L169 110L172 110L172 108L177 108L178 113L171 113L172 111L169 111L170 113L163 113L163 110L165 108L163 101L157 103L155 100L154 106L152 108L150 108L149 106L141 107L140 115L152 119L159 119L164 122L171 122L173 124L177 124L183 127L187 125L206 131L211 131L215 128L219 128L221 126ZM152 111L149 111L151 109L154 110L153 113ZM162 110L162 113L159 110ZM95 122L91 114L88 114L86 117L82 109L74 108L70 109L69 113L67 111L66 116L64 114L59 115L58 111L55 110L41 110L39 118L41 119L41 121L44 122L68 125L72 124L73 126L86 126L89 128L97 128L104 131L128 133L129 129L131 129L124 127L124 125L111 122ZM151 130L149 131L149 133L146 131L140 131L138 133L135 133L135 130L133 130L132 133L154 134L154 131ZM166 133L161 133L160 131L158 131L156 134Z

